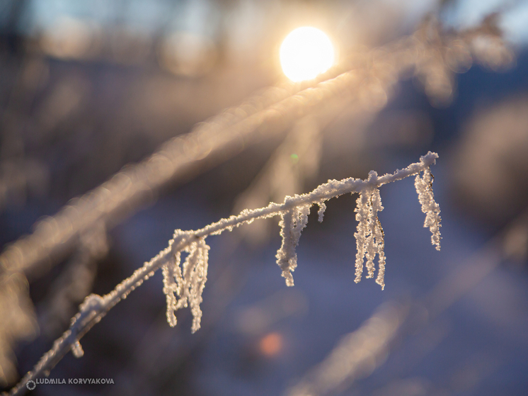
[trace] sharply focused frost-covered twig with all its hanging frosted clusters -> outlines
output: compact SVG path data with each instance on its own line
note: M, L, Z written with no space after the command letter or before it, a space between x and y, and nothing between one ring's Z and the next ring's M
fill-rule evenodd
M440 216L438 205L435 203L430 189L430 166L435 164L438 155L429 152L420 158L420 162L414 163L396 171L394 174L377 176L375 171L371 171L368 179L348 178L340 181L329 180L321 184L310 193L287 196L284 203L270 203L265 208L256 210L243 210L239 215L214 222L200 230L183 231L176 230L173 239L168 242L168 247L159 252L153 259L148 261L142 268L134 271L130 278L125 279L107 295L89 295L80 306L79 313L71 319L71 326L64 332L61 338L54 342L50 351L45 353L35 366L34 370L21 380L14 387L9 395L20 395L25 390L25 384L29 380L34 380L40 375L48 375L50 370L68 352L72 351L74 356L81 357L83 349L79 339L84 336L94 324L98 323L106 313L120 302L127 298L135 288L142 285L144 281L154 275L154 272L162 268L163 272L163 293L167 300L167 320L171 326L176 325L176 310L190 306L193 314L192 331L200 329L200 319L202 311L202 290L207 281L207 261L209 246L205 239L210 235L222 234L234 227L249 224L254 220L274 217L280 215L280 234L282 245L277 251L277 264L282 270L282 276L286 279L286 284L293 285L292 272L297 266L297 254L295 247L299 244L301 231L308 222L309 210L312 205L318 205L319 220L323 220L323 211L326 208L326 200L341 196L345 193L360 193L358 198L357 220L359 221L356 232L358 254L356 256L356 281L359 281L362 274L362 264L365 256L367 258L367 278L374 276L374 255L379 255L379 269L377 283L384 286L385 256L383 252L384 234L381 230L381 223L377 213L383 209L379 198L379 187L386 183L405 179L406 177L420 175L424 173L423 180L427 182L427 188L416 186L420 203L427 213L425 225L433 232L433 244L435 236L440 240L440 233L437 227L432 227L430 222L440 226ZM431 179L432 180L432 179ZM429 220L428 220L429 219ZM433 220L430 220L433 219ZM438 222L436 222L438 221ZM437 245L438 247L438 245ZM183 264L181 263L182 253L187 254Z

